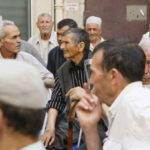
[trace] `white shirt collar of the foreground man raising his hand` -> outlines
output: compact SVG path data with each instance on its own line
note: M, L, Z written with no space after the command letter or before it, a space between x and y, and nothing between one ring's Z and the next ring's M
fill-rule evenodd
M112 120L112 118L115 117L115 115L117 114L117 112L120 109L120 106L123 104L124 102L124 97L128 94L129 91L131 91L132 89L135 89L136 87L139 86L143 86L141 81L137 81L137 82L132 82L130 84L128 84L122 91L121 93L118 95L118 97L114 100L114 102L112 103L112 105L110 106L108 112L107 112L107 117L109 119L109 122Z

